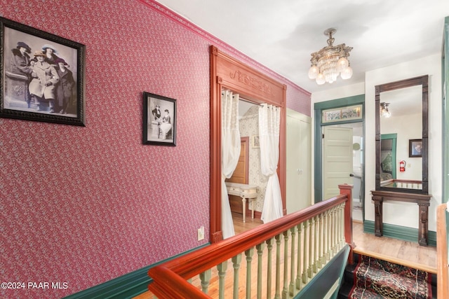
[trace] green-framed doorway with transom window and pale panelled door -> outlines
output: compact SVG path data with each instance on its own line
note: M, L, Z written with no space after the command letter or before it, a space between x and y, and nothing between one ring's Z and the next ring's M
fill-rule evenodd
M350 183L354 186L353 219L364 221L365 95L315 103L314 118L314 201L317 203L335 196L337 193L333 195L332 188L337 188L340 183ZM326 145L330 152L327 157L325 130L328 130L327 137L331 137L330 146ZM339 179L335 179L336 173Z

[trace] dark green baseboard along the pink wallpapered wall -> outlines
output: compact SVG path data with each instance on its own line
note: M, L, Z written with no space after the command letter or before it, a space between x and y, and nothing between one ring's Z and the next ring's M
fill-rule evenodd
M98 284L86 290L68 295L67 299L124 299L133 298L137 295L148 291L148 284L152 279L148 276L148 270L156 265L165 263L168 260L173 260L179 256L183 256L189 252L198 250L205 246L209 246L210 243L203 244L189 251L178 254L166 260L161 260L159 263L154 263L142 269L135 270L128 274L124 274L121 277L106 281L103 284Z

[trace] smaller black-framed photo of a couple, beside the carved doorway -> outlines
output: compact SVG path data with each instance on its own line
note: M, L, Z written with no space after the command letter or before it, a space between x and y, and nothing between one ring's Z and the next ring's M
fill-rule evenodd
M143 92L143 144L176 146L176 100Z

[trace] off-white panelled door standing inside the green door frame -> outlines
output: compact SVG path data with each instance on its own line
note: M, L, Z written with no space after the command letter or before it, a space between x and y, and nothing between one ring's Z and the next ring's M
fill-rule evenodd
M352 184L352 128L323 127L323 200L340 194L338 185Z

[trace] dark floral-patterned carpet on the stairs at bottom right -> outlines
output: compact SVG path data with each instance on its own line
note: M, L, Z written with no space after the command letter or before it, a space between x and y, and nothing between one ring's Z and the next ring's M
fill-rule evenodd
M431 274L370 256L360 256L351 299L432 298Z

